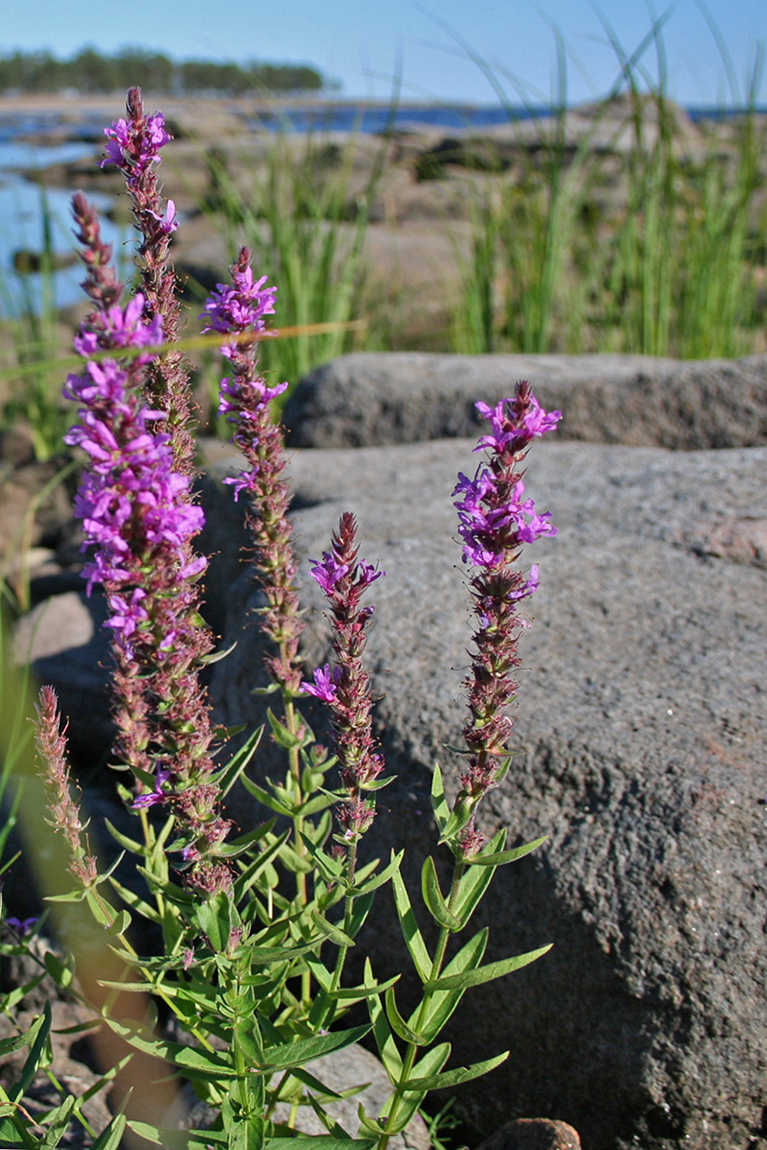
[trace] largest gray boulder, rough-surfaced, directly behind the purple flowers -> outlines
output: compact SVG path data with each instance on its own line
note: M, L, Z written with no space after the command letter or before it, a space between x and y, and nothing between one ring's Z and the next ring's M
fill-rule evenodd
M432 442L292 461L304 562L350 508L361 554L388 573L370 596L368 653L398 781L381 795L367 846L388 856L406 844L413 891L435 850L436 759L455 790L447 747L460 738L469 632L450 493L458 469L476 465L470 448ZM540 564L542 588L524 637L517 754L482 825L507 827L513 843L549 839L500 871L477 926L491 925L490 958L554 946L469 991L448 1028L454 1065L512 1050L460 1091L481 1133L511 1112L572 1122L593 1150L735 1150L761 1134L765 572L759 549L705 540L766 518L766 462L758 447L531 452L529 493L560 534L524 555ZM319 662L327 624L304 569L306 647ZM245 575L224 595L225 638L238 647L214 668L217 718L255 723L261 652L246 605L258 597ZM247 826L255 812L239 802ZM365 943L382 974L402 964L385 892L352 954Z

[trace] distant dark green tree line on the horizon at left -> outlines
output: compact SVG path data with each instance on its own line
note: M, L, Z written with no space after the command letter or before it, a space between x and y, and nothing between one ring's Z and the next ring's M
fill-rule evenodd
M316 91L325 86L321 74L308 64L267 64L248 61L215 63L210 60L176 62L161 52L121 48L102 55L80 48L70 60L49 52L14 52L0 55L0 92L57 92L75 89L83 94L114 92L132 85L174 95L216 92L239 95L253 91Z

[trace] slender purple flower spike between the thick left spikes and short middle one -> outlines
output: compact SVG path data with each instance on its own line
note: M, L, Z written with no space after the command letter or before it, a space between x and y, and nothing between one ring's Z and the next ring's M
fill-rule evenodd
M292 528L287 520L290 491L283 478L285 451L282 429L271 417L270 404L287 386L269 388L258 370L258 339L274 314L276 288L264 288L266 276L254 279L251 253L241 248L231 267L231 284L218 284L205 305L206 331L232 336L221 351L231 375L221 381L218 411L235 428L233 442L247 467L231 483L235 497L247 497L247 524L253 536L254 569L267 600L262 626L277 653L267 665L289 695L298 692L301 668L298 657L302 630L296 588L298 564Z

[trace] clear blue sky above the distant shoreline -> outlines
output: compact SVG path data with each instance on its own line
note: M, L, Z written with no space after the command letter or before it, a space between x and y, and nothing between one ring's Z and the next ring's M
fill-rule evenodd
M767 41L766 0L707 0L743 93L759 40ZM109 52L138 45L175 59L307 62L342 82L345 95L391 93L401 69L404 98L494 103L493 90L448 25L480 57L493 64L514 97L514 77L529 97L552 91L558 28L570 59L568 102L607 92L616 57L600 20L634 52L655 16L664 26L670 94L687 105L730 102L722 56L701 2L675 0L651 7L632 0L7 0L0 51L49 48L69 55L85 44ZM644 56L655 72L654 52ZM399 62L399 63L398 63ZM504 75L505 74L505 75ZM516 102L516 100L514 100ZM767 105L767 77L759 102Z

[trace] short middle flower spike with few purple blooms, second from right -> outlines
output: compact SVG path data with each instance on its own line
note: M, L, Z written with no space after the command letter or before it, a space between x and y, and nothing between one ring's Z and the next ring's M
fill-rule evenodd
M384 573L359 561L358 553L356 522L345 512L331 550L313 560L310 568L330 606L337 662L315 670L313 683L301 684L307 695L323 699L330 708L340 781L348 796L337 818L348 842L356 842L373 822L375 804L366 792L376 789L384 766L373 736L370 677L362 666L366 627L374 608L360 606L367 589Z

